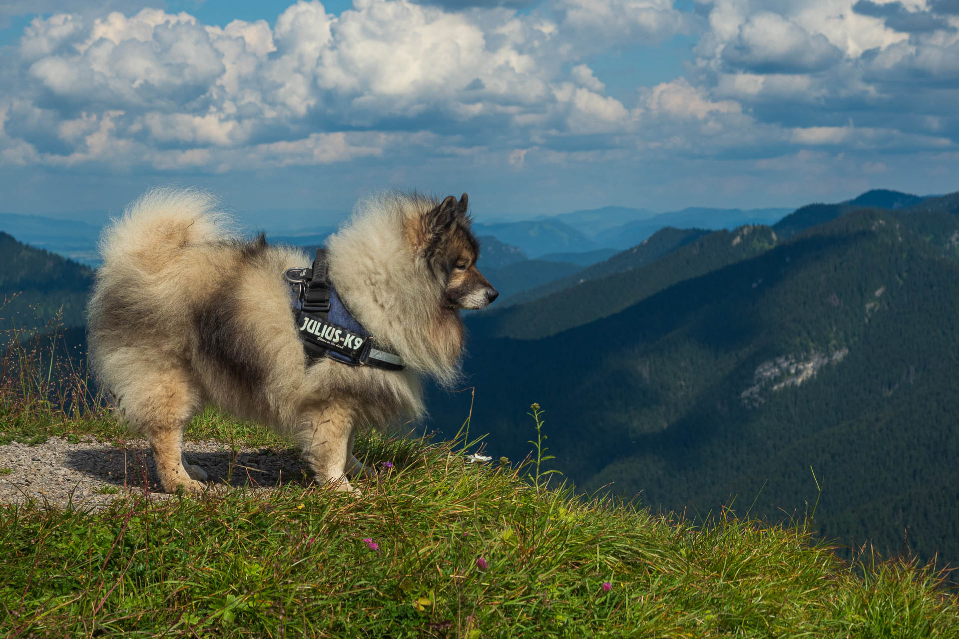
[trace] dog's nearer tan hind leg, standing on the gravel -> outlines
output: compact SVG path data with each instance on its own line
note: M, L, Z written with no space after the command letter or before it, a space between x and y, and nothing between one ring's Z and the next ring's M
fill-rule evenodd
M164 491L201 491L206 478L202 468L185 464L182 453L183 429L199 410L199 393L189 376L178 367L156 366L148 373L138 367L122 389L119 408L124 419L147 438L153 450L156 474ZM157 370L158 369L158 370Z

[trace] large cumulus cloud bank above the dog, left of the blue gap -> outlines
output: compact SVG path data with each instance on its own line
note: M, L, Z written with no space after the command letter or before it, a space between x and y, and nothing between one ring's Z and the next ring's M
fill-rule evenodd
M357 0L337 16L300 1L272 28L157 9L38 17L19 43L18 85L0 94L2 139L20 149L8 153L16 162L221 171L237 165L221 158L226 149L282 166L269 158L331 162L399 144L394 135L352 144L362 131L415 140L483 129L492 135L465 144L499 138L511 148L611 133L629 126L629 108L576 63L588 37L685 28L667 0L563 0L525 15L473 6Z

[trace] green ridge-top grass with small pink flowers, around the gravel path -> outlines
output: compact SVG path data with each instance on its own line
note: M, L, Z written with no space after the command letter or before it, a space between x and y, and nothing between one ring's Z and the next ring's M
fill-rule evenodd
M13 386L24 384L0 385L4 437L126 437L101 404L64 408ZM95 513L0 506L0 628L10 637L959 636L959 605L932 570L845 563L811 542L809 522L730 515L697 528L574 494L536 464L548 459L542 414L533 407L536 457L525 465L469 463L462 439L361 438L360 455L380 473L360 497L292 484L132 493ZM289 445L216 413L189 436Z

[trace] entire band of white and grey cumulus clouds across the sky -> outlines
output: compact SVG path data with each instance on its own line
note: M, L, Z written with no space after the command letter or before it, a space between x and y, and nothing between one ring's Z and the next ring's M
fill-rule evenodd
M222 27L152 8L55 12L0 69L0 166L217 173L415 148L528 171L947 148L957 2L355 0L335 15L300 1L272 25ZM697 37L686 77L623 90L596 64L676 34Z

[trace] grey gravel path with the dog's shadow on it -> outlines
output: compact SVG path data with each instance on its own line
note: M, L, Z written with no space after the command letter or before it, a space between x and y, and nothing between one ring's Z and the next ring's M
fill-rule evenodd
M269 490L290 482L308 481L306 466L292 450L239 448L236 455L222 442L186 442L187 461L206 470L210 480L225 487ZM231 472L232 463L232 472ZM11 470L8 470L11 469ZM58 437L44 444L13 442L0 445L0 503L34 498L51 506L94 510L118 495L157 491L152 451L143 440L110 445L94 440L69 443ZM144 481L146 480L146 482Z

